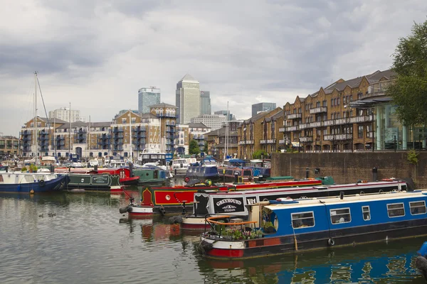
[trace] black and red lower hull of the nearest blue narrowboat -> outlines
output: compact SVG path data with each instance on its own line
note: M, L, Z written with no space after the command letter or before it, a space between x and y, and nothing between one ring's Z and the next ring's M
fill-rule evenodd
M427 236L426 220L399 223L401 224L393 224L393 226L376 225L369 229L364 228L362 232L360 228L354 228L333 231L331 235L327 231L305 234L305 236L297 235L297 246L295 246L293 235L266 236L245 241L218 241L201 236L199 249L209 258L243 259ZM212 244L212 249L204 249L202 247L204 244Z

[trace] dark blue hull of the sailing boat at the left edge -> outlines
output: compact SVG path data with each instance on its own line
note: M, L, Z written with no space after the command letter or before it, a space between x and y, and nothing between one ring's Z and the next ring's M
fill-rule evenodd
M65 183L66 176L59 176L54 180L46 180L46 182L30 182L21 184L0 184L0 192L21 192L21 193L40 193L40 192L56 192Z

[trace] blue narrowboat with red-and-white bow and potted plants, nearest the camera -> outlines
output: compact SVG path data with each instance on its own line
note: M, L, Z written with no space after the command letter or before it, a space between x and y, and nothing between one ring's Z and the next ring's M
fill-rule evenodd
M207 257L238 259L425 236L426 200L427 190L415 190L260 202L248 221L207 217L219 226L201 234L199 249Z

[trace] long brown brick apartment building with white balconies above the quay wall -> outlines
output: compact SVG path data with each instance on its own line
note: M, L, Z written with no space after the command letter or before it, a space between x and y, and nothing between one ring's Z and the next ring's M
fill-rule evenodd
M374 151L425 148L423 127L402 126L386 97L394 72L337 80L283 107L283 148L300 151Z

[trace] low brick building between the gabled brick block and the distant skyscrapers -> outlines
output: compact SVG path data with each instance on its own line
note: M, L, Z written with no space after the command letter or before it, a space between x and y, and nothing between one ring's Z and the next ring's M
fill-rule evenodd
M242 121L229 121L228 134L226 126L205 133L204 139L208 142L208 154L221 160L226 153L231 157L238 155L238 127L241 124ZM228 136L228 144L226 143L226 134ZM226 148L227 145L228 149Z

